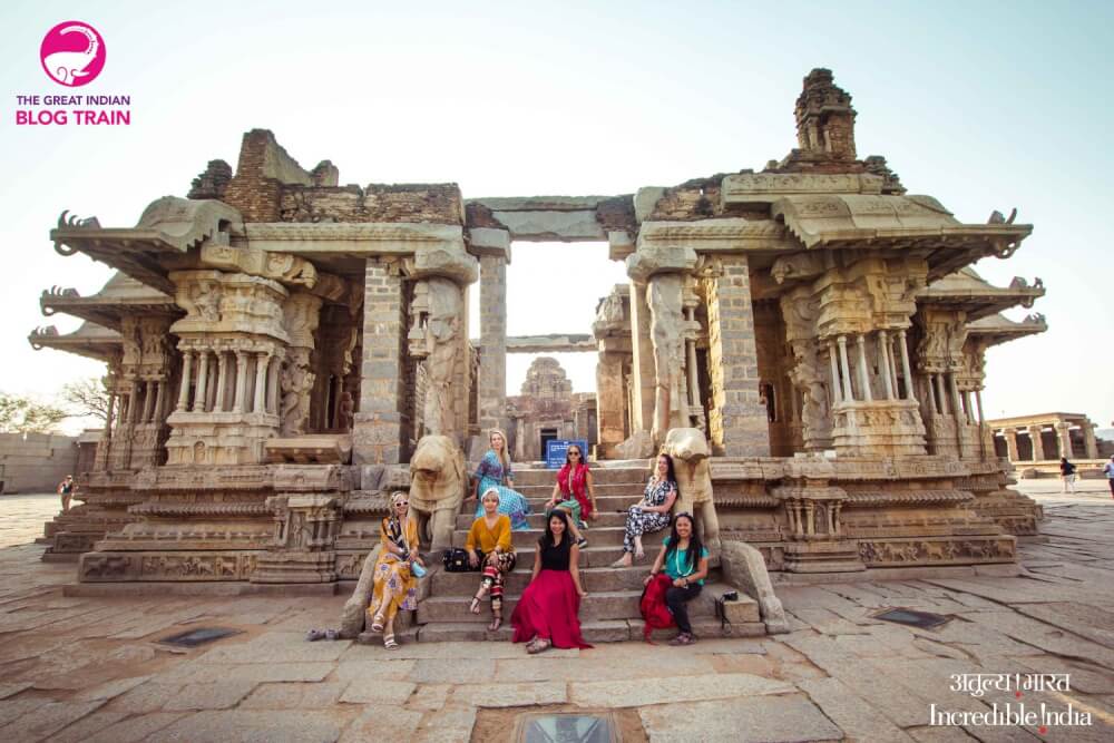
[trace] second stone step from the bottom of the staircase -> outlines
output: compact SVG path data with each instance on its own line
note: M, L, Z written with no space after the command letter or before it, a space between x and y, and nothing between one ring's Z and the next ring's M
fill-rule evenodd
M707 618L715 616L715 597L729 590L730 587L721 583L710 583L704 586L704 590L688 605L688 614L694 619L697 617ZM511 592L504 598L504 617L509 619L515 606L518 604L518 596ZM588 596L580 602L580 619L584 622L600 622L616 619L637 619L641 617L638 600L642 597L641 587L637 590L602 590L593 592L588 589ZM418 624L448 622L455 624L476 624L490 622L490 609L485 604L479 614L469 612L471 598L465 596L430 596L418 605ZM754 599L745 595L740 595L736 609L744 622L759 622L759 607Z

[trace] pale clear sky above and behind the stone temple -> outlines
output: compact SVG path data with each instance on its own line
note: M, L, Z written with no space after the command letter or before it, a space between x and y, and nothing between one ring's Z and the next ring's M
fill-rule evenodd
M273 129L305 166L331 158L342 183L455 180L466 196L631 193L782 157L795 141L801 78L823 66L854 97L861 156L885 155L910 193L936 196L962 221L1016 206L1035 225L1014 258L977 266L996 283L1018 274L1048 287L1036 306L1048 333L990 353L987 414L1069 410L1106 426L1112 7L8 2L0 389L47 395L97 371L25 340L48 322L42 289L89 294L108 275L52 252L58 214L131 225L156 197L183 195L207 160L234 165L252 127ZM130 127L14 126L17 94L59 91L38 46L69 19L97 27L108 50L84 91L130 95ZM531 266L546 265L546 250L517 247L511 281L535 301L511 295L510 330L586 332L594 287L571 304L561 292L556 322L538 311L551 276ZM602 251L580 255L602 284L622 276ZM570 371L577 389L593 383L590 366ZM516 374L511 366L512 388Z

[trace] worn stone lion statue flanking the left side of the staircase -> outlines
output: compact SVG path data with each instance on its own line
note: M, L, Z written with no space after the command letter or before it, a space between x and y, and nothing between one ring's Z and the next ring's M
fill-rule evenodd
M419 534L438 551L452 546L457 514L468 488L465 454L447 436L423 436L410 458L410 508Z

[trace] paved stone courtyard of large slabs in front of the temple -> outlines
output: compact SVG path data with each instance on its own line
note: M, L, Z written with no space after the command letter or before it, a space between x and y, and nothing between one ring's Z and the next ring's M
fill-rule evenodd
M614 712L625 741L1112 740L1114 499L1097 480L1074 497L1055 480L1020 488L1047 519L1019 577L783 587L788 635L540 657L504 643L304 642L336 624L344 596L67 597L74 566L40 563L26 544L57 496L2 497L0 740L499 741L539 710ZM872 618L889 607L952 618L936 629ZM193 649L156 642L203 626L242 634ZM954 674L978 673L1069 674L1069 690L951 691ZM1036 717L985 724L991 705ZM1069 708L1089 725L1042 717Z

